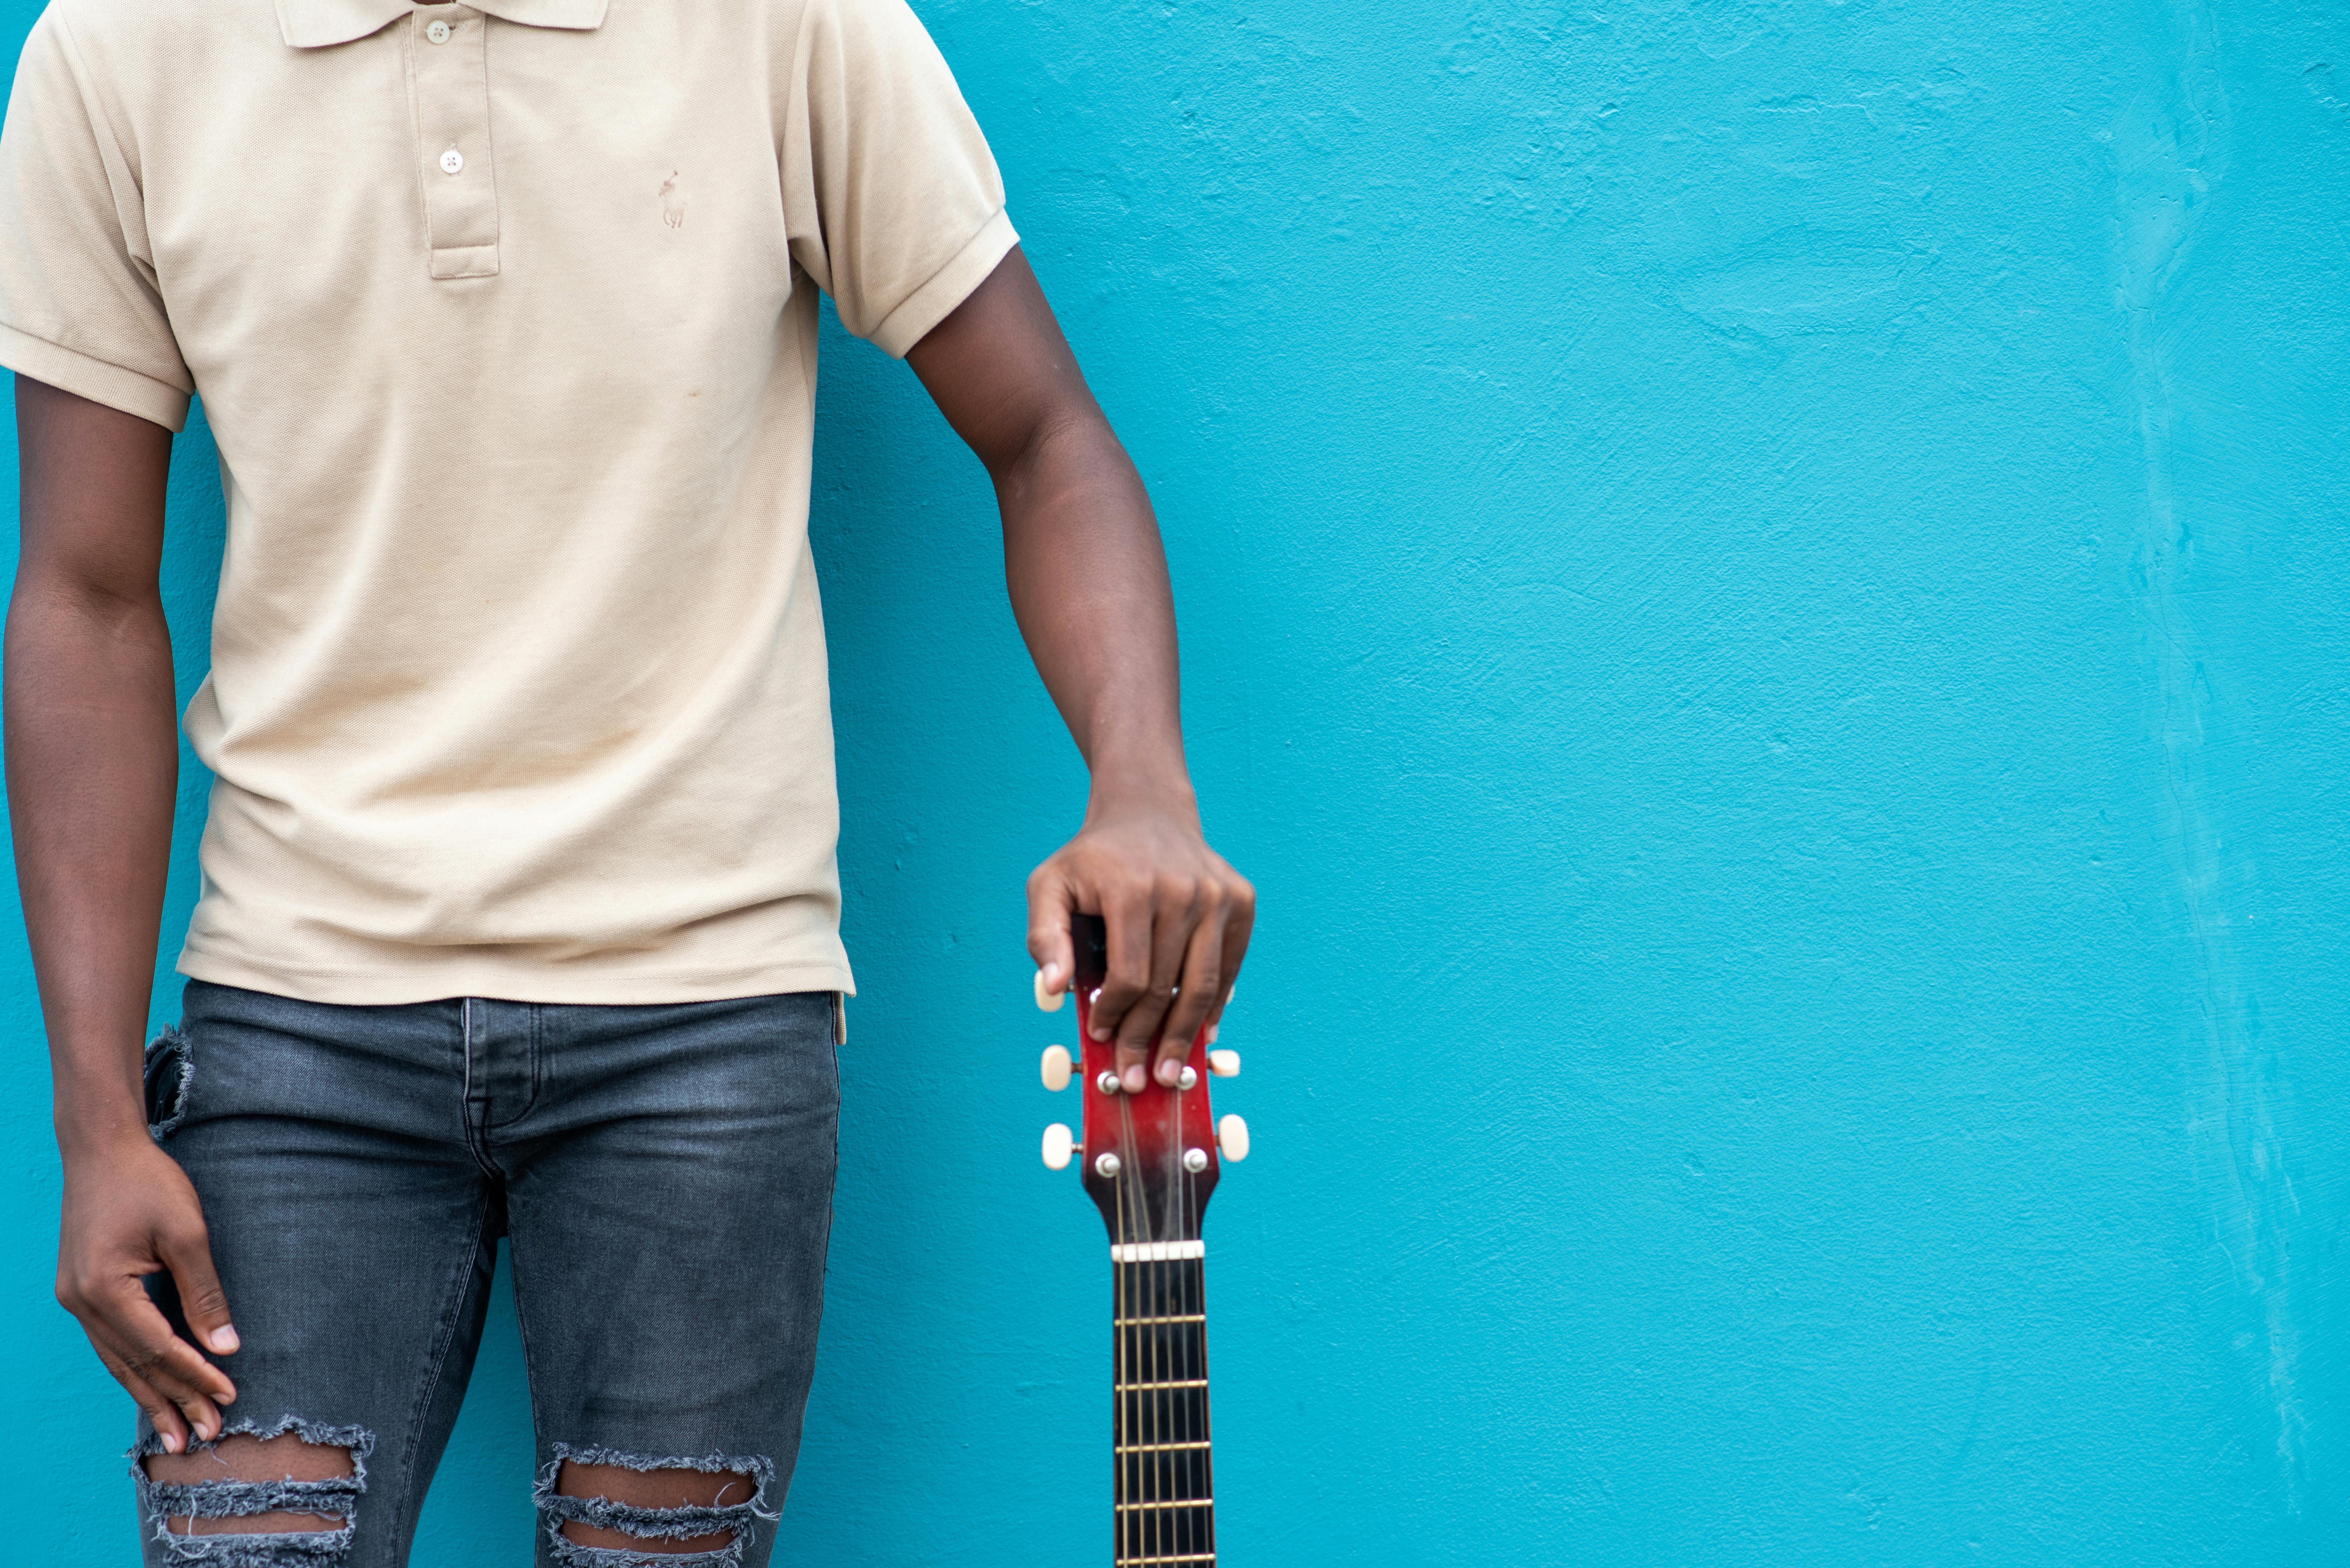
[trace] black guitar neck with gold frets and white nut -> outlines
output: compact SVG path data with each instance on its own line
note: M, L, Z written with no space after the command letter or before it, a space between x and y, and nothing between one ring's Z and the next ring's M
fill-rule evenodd
M1215 1563L1203 1267L1196 1241L1112 1251L1116 1568Z

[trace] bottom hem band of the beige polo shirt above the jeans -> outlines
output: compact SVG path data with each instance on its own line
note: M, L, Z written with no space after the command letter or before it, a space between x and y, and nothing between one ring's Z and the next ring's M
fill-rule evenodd
M679 1001L728 1001L783 992L858 994L846 964L801 959L792 964L743 964L728 969L674 969L660 973L562 973L531 964L449 957L414 969L329 971L242 959L181 947L179 973L212 985L320 1001L329 1006L404 1006L449 997L496 1001L545 1001L557 1006L665 1006Z

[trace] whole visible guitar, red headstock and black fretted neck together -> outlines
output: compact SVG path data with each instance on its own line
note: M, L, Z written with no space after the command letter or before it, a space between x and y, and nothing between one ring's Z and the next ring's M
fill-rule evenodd
M1208 1295L1198 1218L1215 1192L1217 1154L1248 1159L1248 1124L1213 1119L1208 1079L1184 1067L1175 1088L1119 1088L1114 1048L1086 1023L1107 973L1107 938L1095 914L1079 914L1076 1037L1083 1070L1062 1046L1043 1053L1043 1086L1086 1098L1086 1140L1067 1126L1043 1131L1043 1164L1079 1157L1086 1194L1109 1225L1109 1453L1116 1476L1114 1568L1215 1563L1215 1488L1208 1474ZM1039 985L1036 1004L1060 1009ZM1198 1060L1194 1041L1191 1051ZM1236 1051L1208 1051L1208 1072L1231 1077Z

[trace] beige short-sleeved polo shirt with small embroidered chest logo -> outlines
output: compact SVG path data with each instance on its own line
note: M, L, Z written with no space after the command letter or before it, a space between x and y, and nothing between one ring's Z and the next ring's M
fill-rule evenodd
M49 5L0 364L228 496L181 971L848 990L815 289L902 355L1013 242L905 0Z

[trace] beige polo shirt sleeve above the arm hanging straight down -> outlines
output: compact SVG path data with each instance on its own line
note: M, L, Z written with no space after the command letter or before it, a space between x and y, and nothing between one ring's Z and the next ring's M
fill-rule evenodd
M0 364L179 430L195 381L164 315L136 172L96 103L52 5L0 127Z

